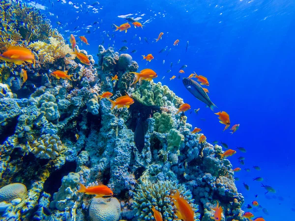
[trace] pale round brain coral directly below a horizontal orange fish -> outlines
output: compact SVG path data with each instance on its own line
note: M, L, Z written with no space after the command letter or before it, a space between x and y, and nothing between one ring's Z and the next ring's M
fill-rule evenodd
M89 206L92 221L118 221L120 215L121 206L117 198L92 198Z

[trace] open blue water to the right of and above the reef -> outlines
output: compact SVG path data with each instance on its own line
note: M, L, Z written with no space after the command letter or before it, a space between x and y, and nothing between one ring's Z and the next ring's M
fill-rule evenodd
M263 216L266 221L295 220L295 209L292 210L295 208L294 1L104 0L94 6L98 13L93 13L92 7L88 8L94 0L72 1L74 4L67 0L37 2L46 6L43 12L53 26L66 39L73 33L80 49L87 50L89 54L96 55L103 40L105 48L108 44L114 45L116 50L127 46L129 50L126 53L129 54L137 50L132 56L138 62L139 70L155 70L159 76L155 82L168 85L192 106L192 110L200 108L198 115L190 114L190 111L186 115L193 127L202 129L207 141L221 140L232 149L235 146L246 148L247 153L237 151L230 157L234 167L240 166L237 157L246 158L245 165L240 166L242 171L236 173L240 178L236 186L245 196L245 205L257 200L269 215L261 209L245 211L254 213L256 217ZM131 17L141 17L141 23L148 19L150 22L143 29L132 26L127 33L114 32L112 24L119 26L125 23L118 16L129 13L133 14ZM145 15L140 16L142 14ZM58 21L61 26L57 25ZM94 21L99 24L92 25ZM154 38L160 32L164 32L163 38L155 42ZM88 38L89 46L81 44L80 35ZM173 46L176 39L179 39L179 44ZM127 40L127 43L122 43L122 40ZM187 41L189 48L185 53ZM157 53L166 46L172 48L169 55L166 55L167 51ZM141 56L147 54L154 56L148 63ZM166 73L171 62L172 71ZM187 65L185 74L179 74L183 64ZM207 77L210 99L220 110L230 114L232 125L240 124L234 135L230 135L229 130L222 132L224 125L218 122L217 116L182 85L182 77L188 77L193 71ZM180 75L181 79L169 81L173 75ZM164 76L165 79L161 80ZM261 171L253 169L254 165L260 166ZM251 168L251 171L246 172L244 168ZM275 188L277 193L265 194L266 191L260 187L261 182L252 181L258 176L262 176L265 179L263 183ZM250 191L244 189L242 182L250 186ZM256 194L258 198L255 198Z

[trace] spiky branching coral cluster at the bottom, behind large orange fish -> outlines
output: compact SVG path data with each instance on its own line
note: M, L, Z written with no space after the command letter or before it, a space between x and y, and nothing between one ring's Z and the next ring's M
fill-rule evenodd
M195 211L195 221L199 221L198 206L193 204L192 194L186 190L184 185L177 184L176 181L157 181L141 180L133 192L133 209L136 210L138 221L154 220L152 206L162 214L163 220L173 221L176 218L176 207L168 195L174 194L178 190L180 195L186 199Z

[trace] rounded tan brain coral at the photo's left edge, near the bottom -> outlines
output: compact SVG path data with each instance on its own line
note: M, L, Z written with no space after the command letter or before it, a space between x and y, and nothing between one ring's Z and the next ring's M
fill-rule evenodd
M27 187L22 183L8 184L0 189L0 202L11 202L13 199L24 200L27 195Z

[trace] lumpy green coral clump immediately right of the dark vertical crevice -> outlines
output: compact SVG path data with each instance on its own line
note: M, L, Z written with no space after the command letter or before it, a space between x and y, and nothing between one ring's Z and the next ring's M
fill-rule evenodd
M156 132L168 133L173 128L174 120L170 113L154 113L153 118L155 119L154 130Z

